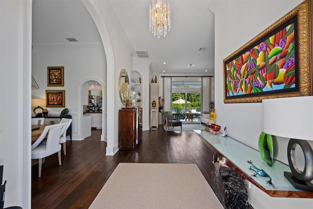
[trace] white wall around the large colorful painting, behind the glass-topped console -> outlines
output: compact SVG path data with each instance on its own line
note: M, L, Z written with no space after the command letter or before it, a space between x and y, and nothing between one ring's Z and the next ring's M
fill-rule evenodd
M223 0L212 1L210 6L215 13L215 109L217 122L222 127L227 126L229 137L257 150L259 135L263 130L262 103L224 104L223 60L301 2L302 0ZM278 142L278 159L288 163L288 140L278 138ZM283 175L282 178L284 178ZM252 198L252 203L255 204L252 205L255 209L312 208L313 205L312 199L271 198L268 195L262 195L262 192L255 186L249 190L249 196Z

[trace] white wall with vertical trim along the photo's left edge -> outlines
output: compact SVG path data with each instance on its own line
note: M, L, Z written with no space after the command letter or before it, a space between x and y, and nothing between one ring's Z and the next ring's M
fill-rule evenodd
M0 165L4 208L30 208L31 3L0 0ZM28 140L27 140L28 139Z

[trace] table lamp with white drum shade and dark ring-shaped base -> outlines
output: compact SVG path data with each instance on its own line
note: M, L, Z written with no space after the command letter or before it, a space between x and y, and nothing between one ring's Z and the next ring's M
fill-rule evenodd
M287 148L291 172L284 176L297 189L313 192L313 151L307 140L313 140L313 96L264 99L263 131L267 134L290 138ZM301 171L295 159L299 145L304 154Z

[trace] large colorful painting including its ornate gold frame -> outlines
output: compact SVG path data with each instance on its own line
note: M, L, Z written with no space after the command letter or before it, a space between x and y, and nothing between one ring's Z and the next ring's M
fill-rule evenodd
M223 60L224 103L312 95L309 0Z

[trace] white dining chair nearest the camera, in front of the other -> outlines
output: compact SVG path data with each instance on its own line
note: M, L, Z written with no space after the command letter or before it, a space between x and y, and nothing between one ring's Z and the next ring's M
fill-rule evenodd
M61 165L61 144L59 144L61 130L66 127L66 123L45 126L43 133L31 145L31 159L38 159L38 177L41 177L43 159L58 153L59 165ZM48 134L46 141L46 134Z

